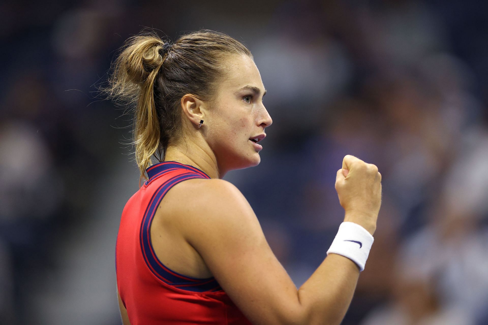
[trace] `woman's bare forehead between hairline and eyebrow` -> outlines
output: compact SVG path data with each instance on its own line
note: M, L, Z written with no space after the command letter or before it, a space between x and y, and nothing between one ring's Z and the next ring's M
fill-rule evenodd
M225 59L225 75L220 86L226 90L255 86L264 91L258 67L247 55L232 55Z

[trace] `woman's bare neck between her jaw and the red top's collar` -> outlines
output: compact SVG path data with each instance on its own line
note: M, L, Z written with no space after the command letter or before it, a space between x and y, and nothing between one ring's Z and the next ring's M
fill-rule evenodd
M202 148L188 138L185 140L183 145L169 145L166 149L164 161L176 160L180 163L192 165L205 172L210 178L224 177L219 172L217 159L210 148Z

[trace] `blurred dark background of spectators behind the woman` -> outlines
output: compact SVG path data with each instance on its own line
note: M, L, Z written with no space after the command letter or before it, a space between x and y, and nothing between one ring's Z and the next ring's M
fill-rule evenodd
M488 324L488 8L481 1L0 4L1 324L120 324L114 249L137 191L131 116L98 86L142 28L249 47L273 118L244 193L297 286L379 167L375 243L344 325ZM324 288L326 290L326 288Z

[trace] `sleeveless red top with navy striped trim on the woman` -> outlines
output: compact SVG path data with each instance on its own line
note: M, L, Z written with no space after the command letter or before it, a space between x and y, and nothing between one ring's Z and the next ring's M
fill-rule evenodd
M172 271L151 244L151 222L164 194L187 179L210 177L174 161L146 171L149 180L123 209L115 249L117 287L131 325L249 325L213 277L196 279Z

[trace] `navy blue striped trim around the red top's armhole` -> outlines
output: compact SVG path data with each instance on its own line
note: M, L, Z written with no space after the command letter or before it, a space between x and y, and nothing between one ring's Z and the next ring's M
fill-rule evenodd
M164 170L170 169L171 167L168 167L170 165L173 164L164 164L163 165ZM158 173L160 172L161 170L158 170ZM141 223L140 242L141 242L142 256L144 257L144 261L146 262L146 265L151 270L151 272L154 275L156 275L161 281L163 281L164 283L170 286L177 287L182 290L194 291L194 292L219 291L222 290L222 288L213 277L206 278L206 279L192 278L180 274L178 272L175 272L167 268L166 266L164 266L164 264L156 256L156 253L154 252L151 243L151 236L150 236L151 223L164 195L176 184L183 182L187 179L193 179L193 178L206 178L206 177L200 173L190 170L189 172L177 175L175 177L172 177L168 181L164 182L153 194L151 201L149 202L149 205L146 208Z

